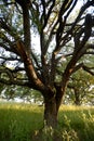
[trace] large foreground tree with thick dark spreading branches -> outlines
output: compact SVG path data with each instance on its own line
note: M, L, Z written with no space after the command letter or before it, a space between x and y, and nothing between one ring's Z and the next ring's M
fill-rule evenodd
M92 13L84 17L85 11L94 7L94 1L88 0L79 7L78 15L70 23L68 18L78 2L8 0L6 11L12 13L11 17L10 13L5 16L2 11L0 18L0 82L39 90L44 99L44 119L52 127L57 125L59 105L70 76L84 66L79 60L94 48L94 44L86 43L92 34ZM31 27L39 35L40 62L31 44ZM72 50L67 52L71 40ZM67 63L62 79L57 81L57 64L63 57ZM22 78L17 74L23 74Z

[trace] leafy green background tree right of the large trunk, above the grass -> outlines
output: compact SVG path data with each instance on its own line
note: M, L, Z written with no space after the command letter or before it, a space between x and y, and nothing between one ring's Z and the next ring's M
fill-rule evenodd
M78 70L69 80L67 94L65 95L65 101L67 103L72 103L76 105L81 104L93 104L93 85L94 77L90 74Z

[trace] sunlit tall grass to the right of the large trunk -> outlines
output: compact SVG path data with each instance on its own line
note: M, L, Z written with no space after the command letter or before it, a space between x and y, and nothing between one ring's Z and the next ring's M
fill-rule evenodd
M79 141L94 141L94 107L62 106L59 125L67 133L73 131Z

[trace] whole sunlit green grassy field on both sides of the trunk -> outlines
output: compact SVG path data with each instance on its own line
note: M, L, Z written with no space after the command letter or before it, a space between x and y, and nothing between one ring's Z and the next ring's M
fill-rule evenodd
M43 127L43 107L29 104L0 103L0 141L39 141L35 139ZM94 107L65 106L58 114L63 141L94 141ZM40 141L53 141L53 129L44 128Z

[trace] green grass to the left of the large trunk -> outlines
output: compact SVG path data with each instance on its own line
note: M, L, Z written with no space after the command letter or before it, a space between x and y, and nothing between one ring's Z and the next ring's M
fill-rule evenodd
M29 141L42 127L42 110L26 104L0 104L0 141Z

